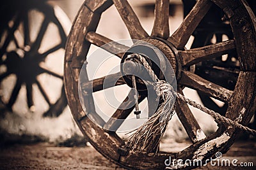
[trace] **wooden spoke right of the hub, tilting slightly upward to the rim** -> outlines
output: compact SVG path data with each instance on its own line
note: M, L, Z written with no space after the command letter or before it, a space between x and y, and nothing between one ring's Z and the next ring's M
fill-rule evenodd
M200 48L193 48L191 50L179 51L179 54L182 57L182 64L184 66L191 66L197 62L220 57L221 55L232 52L235 49L235 41L234 39L230 39L228 41L216 43L214 45L207 45Z

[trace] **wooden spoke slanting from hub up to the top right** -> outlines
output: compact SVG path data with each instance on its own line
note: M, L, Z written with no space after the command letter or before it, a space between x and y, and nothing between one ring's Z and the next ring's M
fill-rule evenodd
M168 38L168 40L179 50L182 50L189 37L195 31L197 25L211 8L210 0L197 1L195 6L186 16L180 27Z

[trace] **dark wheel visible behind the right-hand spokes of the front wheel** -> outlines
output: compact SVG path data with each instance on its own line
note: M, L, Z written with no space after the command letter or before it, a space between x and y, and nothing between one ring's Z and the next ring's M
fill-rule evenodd
M247 1L255 14L255 5L252 1ZM185 9L184 16L188 15L196 1L183 1ZM224 16L224 17L223 17ZM229 20L225 17L223 11L214 6L204 17L200 25L193 32L194 40L191 48L199 48L206 45L212 45L211 41L220 43L222 41L233 39L232 29ZM228 90L234 90L239 76L240 66L236 52L230 52L225 56L216 57L214 59L204 60L195 64L195 74L201 76L205 80L211 81L225 87ZM198 95L207 108L211 108L221 115L225 115L228 103L218 105L204 92L198 91ZM255 119L254 123L255 124ZM254 125L253 125L254 127ZM254 127L255 128L255 127Z

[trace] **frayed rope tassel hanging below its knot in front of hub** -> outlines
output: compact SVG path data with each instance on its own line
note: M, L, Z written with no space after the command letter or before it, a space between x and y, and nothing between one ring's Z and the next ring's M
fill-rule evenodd
M154 89L157 96L163 99L163 103L159 106L156 113L132 134L126 145L126 148L132 152L156 153L168 122L174 114L175 96L173 96L172 90L170 90L173 89L172 86L165 81L159 80L155 83Z

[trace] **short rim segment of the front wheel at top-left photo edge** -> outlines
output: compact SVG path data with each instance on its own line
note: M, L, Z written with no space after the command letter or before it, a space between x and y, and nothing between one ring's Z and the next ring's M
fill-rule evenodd
M108 9L113 4L111 0L93 0L93 1L84 1L86 5L93 13L102 13Z

